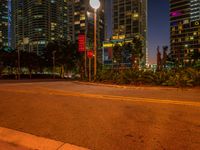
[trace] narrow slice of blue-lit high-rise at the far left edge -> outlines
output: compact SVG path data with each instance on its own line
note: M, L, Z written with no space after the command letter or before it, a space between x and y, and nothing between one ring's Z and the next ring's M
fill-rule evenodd
M11 0L1 0L0 5L0 48L11 44Z

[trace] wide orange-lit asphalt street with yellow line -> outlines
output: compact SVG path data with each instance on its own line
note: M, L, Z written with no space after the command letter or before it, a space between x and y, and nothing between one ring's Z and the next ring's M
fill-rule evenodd
M200 89L0 82L0 127L92 150L197 150Z

